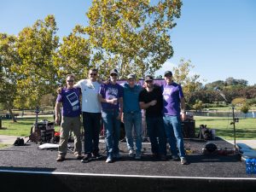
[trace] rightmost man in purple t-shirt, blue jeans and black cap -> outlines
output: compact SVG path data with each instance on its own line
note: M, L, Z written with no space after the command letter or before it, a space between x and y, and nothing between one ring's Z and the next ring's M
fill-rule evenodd
M177 156L178 148L181 163L187 165L189 163L185 158L186 154L181 128L181 118L182 120L186 118L183 90L180 84L176 84L172 81L171 71L166 71L165 80L166 84L162 86L162 92L164 98L163 119L167 141L170 144L172 160L179 160Z

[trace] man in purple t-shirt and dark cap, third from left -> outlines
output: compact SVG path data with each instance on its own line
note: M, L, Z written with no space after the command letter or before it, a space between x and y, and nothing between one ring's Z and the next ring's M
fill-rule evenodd
M106 131L107 163L119 159L120 119L123 113L124 88L117 83L118 71L110 72L109 84L102 84L99 101L102 102L102 120Z

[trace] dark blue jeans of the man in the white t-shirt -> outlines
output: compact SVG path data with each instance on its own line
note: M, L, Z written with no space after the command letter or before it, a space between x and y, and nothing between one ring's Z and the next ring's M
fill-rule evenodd
M84 154L99 152L99 135L102 113L83 112Z

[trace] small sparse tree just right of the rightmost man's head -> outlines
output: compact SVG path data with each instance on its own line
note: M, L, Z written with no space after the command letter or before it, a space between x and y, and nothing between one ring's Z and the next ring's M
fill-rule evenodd
M191 99L195 91L202 89L202 84L199 81L200 75L190 75L190 69L194 66L191 61L180 60L177 67L173 67L173 80L183 87L183 93L188 104L191 104Z

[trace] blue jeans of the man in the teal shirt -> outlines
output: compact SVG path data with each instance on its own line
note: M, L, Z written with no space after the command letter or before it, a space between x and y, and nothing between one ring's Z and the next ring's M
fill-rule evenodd
M132 137L132 127L134 127L136 135L136 151L138 153L142 150L142 113L138 112L125 112L124 113L124 123L125 123L125 137L127 142L127 147L129 150L134 149L133 137Z

